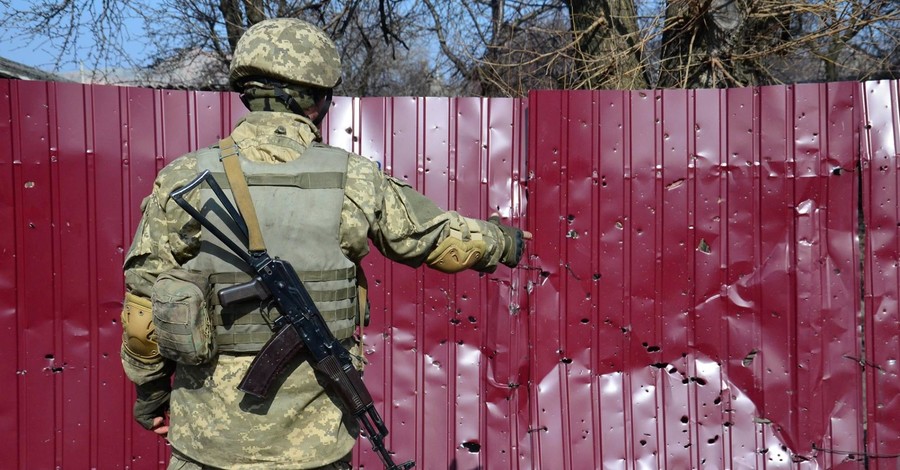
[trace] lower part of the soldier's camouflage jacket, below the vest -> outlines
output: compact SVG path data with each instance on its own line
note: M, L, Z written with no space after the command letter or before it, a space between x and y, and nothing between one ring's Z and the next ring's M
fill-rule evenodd
M358 352L351 342L345 347ZM353 448L358 429L352 419L342 419L339 398L323 389L319 381L327 379L317 377L306 359L298 356L288 366L290 375L267 399L237 389L251 355L179 365L169 442L192 460L219 468L316 468L339 460Z

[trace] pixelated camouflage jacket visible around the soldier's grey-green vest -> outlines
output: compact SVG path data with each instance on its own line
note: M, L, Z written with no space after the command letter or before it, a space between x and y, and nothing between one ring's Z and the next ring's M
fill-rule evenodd
M317 133L302 116L251 112L232 137L243 158L274 164L300 157ZM200 227L169 196L197 173L191 154L159 173L142 204L143 218L126 255L129 292L149 297L161 272L197 254ZM188 195L188 201L196 205L198 197ZM340 230L341 249L350 260L368 253L371 235L387 258L419 266L448 236L451 225L469 224L478 227L486 244L484 258L473 269L493 270L505 251L496 225L445 212L406 183L386 176L374 162L350 155ZM339 409L313 380L308 363L284 376L271 405L247 406L250 402L235 385L251 360L249 355L220 355L209 367L179 366L169 436L175 449L208 465L262 470L324 465L352 447L355 430L340 420ZM138 367L123 359L123 366L133 382L142 383L164 374L171 363Z

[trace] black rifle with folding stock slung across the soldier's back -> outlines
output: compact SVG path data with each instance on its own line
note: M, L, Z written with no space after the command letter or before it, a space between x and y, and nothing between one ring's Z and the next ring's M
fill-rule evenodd
M281 314L281 317L274 323L273 329L276 333L253 359L238 389L250 395L265 398L274 379L281 374L288 362L301 349L306 348L312 358L313 368L328 377L341 401L359 421L364 435L378 456L381 457L385 468L406 470L415 466L413 461L399 465L394 463L390 451L384 445L384 438L388 434L387 426L375 409L372 396L363 383L362 376L353 366L350 352L328 329L319 309L291 264L277 257L269 256L265 246L262 246L262 249L254 250L252 241L249 243L250 249L239 246L184 199L186 193L204 181L209 184L219 203L228 212L232 219L231 222L241 232L238 235L242 235L241 239L246 240L248 237L247 223L225 196L209 170L205 170L185 186L173 191L172 199L256 273L256 277L250 282L219 291L219 302L222 305L228 305L251 298L271 299ZM254 219L255 216L251 217L251 220Z

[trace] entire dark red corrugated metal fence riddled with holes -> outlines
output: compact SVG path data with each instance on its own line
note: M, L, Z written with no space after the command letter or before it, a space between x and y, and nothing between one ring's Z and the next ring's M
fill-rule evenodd
M155 173L243 112L0 80L6 467L164 465L119 365L122 258ZM898 468L897 82L340 98L325 127L535 234L492 275L368 258L365 378L399 459Z

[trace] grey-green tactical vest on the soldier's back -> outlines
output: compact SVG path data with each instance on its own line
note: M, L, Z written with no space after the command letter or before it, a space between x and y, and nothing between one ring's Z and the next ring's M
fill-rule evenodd
M197 153L231 199L230 185L216 148ZM291 263L337 339L353 335L358 319L356 265L340 247L341 209L349 156L343 150L314 144L300 158L285 163L240 158L269 255ZM200 212L226 234L240 233L201 186ZM234 203L232 199L232 203ZM249 268L215 236L201 231L200 253L189 269L210 273L210 312L221 352L257 352L272 336L280 316L267 301L219 305L218 291L251 280ZM243 242L236 236L241 246Z

